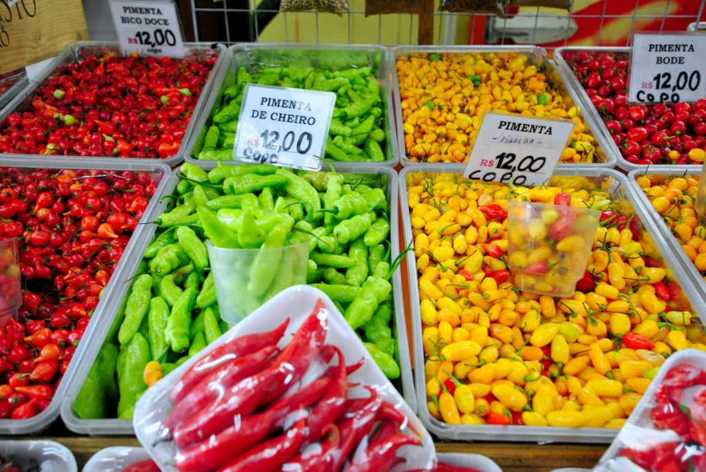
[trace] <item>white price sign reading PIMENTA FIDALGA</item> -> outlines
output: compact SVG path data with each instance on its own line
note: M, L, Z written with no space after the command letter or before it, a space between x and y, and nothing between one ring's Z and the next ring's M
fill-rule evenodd
M537 186L554 174L574 124L565 119L486 112L463 176Z

